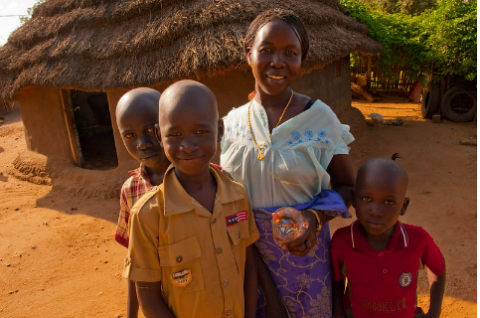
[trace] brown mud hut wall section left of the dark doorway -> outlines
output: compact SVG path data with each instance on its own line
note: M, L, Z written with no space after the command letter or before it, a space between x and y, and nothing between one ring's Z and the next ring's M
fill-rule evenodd
M62 109L62 90L34 87L19 94L18 102L27 149L73 160Z

